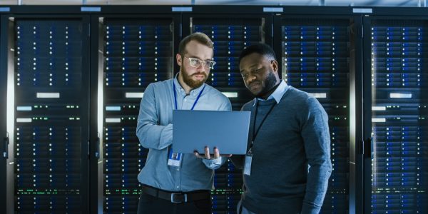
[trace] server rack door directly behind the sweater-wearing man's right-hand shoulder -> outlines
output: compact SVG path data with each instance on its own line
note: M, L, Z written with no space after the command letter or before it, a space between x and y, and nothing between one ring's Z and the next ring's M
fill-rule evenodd
M329 116L332 175L321 213L348 213L350 176L350 68L353 20L347 17L275 17L282 79L311 93ZM275 34L277 36L278 34ZM278 35L279 36L279 35Z

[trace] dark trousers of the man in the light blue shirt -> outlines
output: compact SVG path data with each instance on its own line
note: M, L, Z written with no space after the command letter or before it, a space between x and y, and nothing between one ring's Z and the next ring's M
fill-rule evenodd
M169 200L156 198L141 193L138 214L211 214L211 199L195 200L188 203L171 203Z

